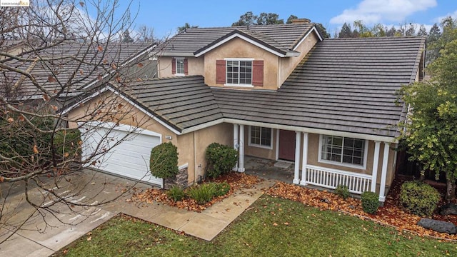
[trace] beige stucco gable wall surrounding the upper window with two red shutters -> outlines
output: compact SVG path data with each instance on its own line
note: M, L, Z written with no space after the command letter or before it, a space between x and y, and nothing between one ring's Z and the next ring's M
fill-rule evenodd
M223 84L216 84L216 60L226 58L263 60L263 86L254 86L254 89L278 89L279 57L239 38L232 39L205 54L204 76L206 84L224 86Z

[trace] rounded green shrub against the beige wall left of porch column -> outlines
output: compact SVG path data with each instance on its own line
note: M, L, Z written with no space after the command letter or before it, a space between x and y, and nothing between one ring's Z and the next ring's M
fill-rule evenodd
M209 178L217 178L228 173L236 165L238 152L231 146L211 143L206 148L206 172Z

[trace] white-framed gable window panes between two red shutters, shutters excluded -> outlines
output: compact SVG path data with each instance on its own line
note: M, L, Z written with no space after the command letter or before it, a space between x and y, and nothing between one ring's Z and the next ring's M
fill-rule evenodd
M252 84L252 61L227 61L227 84Z

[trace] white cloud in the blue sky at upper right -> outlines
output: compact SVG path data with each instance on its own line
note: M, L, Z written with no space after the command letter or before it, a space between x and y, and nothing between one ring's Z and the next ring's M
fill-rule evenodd
M381 21L403 21L416 11L436 6L436 0L363 0L356 9L345 9L333 17L331 24L343 24L362 20L365 24Z

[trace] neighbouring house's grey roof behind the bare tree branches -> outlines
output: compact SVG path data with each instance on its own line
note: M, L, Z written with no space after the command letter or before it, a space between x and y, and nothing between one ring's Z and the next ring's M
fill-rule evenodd
M96 44L87 45L72 41L40 51L30 50L20 55L21 58L36 61L11 60L7 61L6 65L29 72L46 91L55 94L65 89L61 96L74 96L79 94L82 87L99 81L100 76L112 71L111 64L121 66L149 47L149 44L144 43L111 43L102 45L99 49ZM51 60L52 64L46 59ZM6 69L0 71L5 71L7 79L4 83L9 84L2 86L1 89L14 88L16 95L22 99L43 96L44 92L38 89L31 79ZM65 86L69 81L72 84L71 88ZM6 92L0 91L0 94Z

